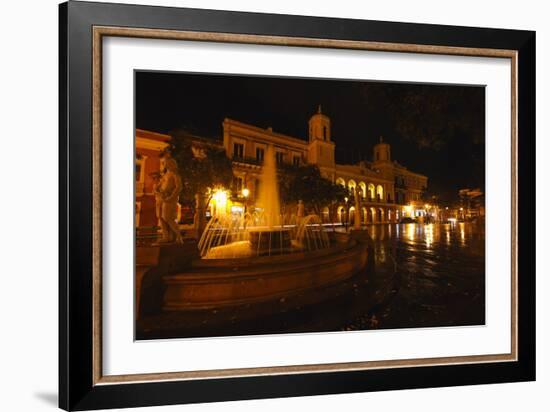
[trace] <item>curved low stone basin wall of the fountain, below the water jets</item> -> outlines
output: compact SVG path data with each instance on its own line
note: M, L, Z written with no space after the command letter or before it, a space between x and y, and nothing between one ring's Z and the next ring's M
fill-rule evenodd
M367 246L350 240L330 248L247 259L194 261L164 276L164 310L204 310L307 293L349 279L367 264Z

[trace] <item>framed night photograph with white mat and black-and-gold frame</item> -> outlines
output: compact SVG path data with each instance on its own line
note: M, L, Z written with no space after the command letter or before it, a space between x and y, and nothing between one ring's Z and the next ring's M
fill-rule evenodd
M535 33L60 5L60 407L535 379Z

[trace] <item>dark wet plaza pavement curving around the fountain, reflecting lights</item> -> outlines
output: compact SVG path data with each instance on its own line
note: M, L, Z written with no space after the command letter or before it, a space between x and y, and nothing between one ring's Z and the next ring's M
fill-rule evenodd
M262 304L165 313L137 323L137 339L480 325L485 322L483 225L366 228L365 271L338 285ZM307 304L312 293L322 303Z

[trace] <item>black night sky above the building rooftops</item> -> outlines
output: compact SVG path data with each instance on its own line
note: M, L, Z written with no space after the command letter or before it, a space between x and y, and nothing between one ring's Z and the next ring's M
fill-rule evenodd
M485 186L485 88L287 77L136 72L136 127L222 135L230 117L307 140L321 104L336 161L372 160L383 136L392 158L428 176L428 192L452 200Z

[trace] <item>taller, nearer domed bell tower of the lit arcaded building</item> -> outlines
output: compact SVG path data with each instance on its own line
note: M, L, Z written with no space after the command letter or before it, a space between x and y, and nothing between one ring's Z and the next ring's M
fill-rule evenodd
M330 133L330 118L321 105L309 119L308 162L324 168L334 168L334 143Z

